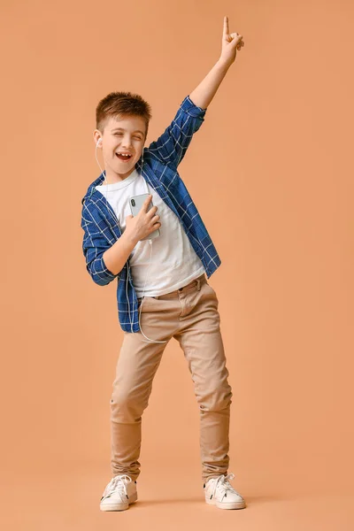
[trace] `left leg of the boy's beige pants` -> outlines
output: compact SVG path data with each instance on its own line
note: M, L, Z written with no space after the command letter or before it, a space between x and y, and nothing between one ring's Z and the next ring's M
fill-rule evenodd
M142 303L142 331L150 339L169 341L175 316L169 312L166 319L160 313L157 317L154 301L152 297L146 297ZM112 475L127 473L134 481L141 466L138 458L142 442L142 412L149 404L152 381L167 345L143 342L144 339L141 332L124 333L111 398Z

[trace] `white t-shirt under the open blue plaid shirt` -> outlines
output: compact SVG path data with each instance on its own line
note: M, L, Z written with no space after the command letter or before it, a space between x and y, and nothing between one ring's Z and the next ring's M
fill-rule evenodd
M205 272L180 219L136 169L123 181L96 186L96 189L111 204L122 233L126 229L126 218L132 213L129 206L131 196L152 194L152 204L158 207L160 235L151 240L151 247L148 240L137 242L129 256L137 297L164 295L185 286Z

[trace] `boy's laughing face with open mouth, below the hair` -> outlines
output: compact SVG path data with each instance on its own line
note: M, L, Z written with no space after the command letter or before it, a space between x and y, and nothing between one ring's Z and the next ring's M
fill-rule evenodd
M96 132L97 130L95 135ZM102 143L98 144L102 147L105 165L119 175L132 173L135 163L142 155L145 132L145 121L140 116L111 117L104 127ZM97 135L95 139L98 138ZM121 152L130 157L118 155Z

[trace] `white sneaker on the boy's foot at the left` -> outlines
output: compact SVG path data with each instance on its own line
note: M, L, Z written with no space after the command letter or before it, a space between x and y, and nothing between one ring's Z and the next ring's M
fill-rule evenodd
M138 499L136 481L127 474L114 476L104 489L101 511L124 511Z

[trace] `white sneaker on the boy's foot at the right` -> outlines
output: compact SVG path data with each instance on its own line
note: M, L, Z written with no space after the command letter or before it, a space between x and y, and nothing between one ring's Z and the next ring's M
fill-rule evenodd
M234 473L227 476L212 477L204 483L205 502L219 509L243 509L246 504L241 494L230 485L228 480L235 478Z

